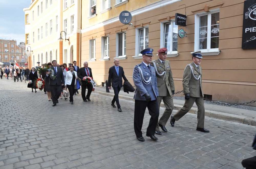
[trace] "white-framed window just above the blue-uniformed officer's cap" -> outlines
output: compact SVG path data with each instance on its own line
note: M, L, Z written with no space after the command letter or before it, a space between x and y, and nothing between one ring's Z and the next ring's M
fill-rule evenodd
M139 29L139 43L137 48L139 49L138 53L148 48L148 27Z

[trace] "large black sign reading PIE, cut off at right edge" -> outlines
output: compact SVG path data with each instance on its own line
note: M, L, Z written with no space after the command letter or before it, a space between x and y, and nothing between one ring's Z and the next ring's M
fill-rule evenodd
M256 48L256 0L244 1L242 49Z

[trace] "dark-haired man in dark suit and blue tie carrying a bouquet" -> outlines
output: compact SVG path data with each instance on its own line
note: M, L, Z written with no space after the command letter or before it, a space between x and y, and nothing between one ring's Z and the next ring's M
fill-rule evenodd
M62 72L62 69L57 67L57 61L52 61L53 67L51 69L54 70L54 77L50 75L50 72L46 72L46 78L49 78L49 84L50 84L50 91L52 93L52 100L53 100L53 106L56 106L58 101L58 98L61 94L61 86L64 86L64 75Z

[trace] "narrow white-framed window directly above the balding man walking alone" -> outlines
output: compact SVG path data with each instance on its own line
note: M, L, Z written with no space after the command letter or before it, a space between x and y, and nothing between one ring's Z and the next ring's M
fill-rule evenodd
M126 56L126 32L117 34L117 55L118 57Z

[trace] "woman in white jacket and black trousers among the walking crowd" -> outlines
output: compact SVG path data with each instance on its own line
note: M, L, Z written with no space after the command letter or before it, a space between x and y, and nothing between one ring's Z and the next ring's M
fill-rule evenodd
M77 79L77 73L74 71L74 67L69 67L70 71L66 73L66 79L65 79L65 88L68 88L69 90L69 101L71 102L71 105L73 105L73 95L75 93L75 84Z

